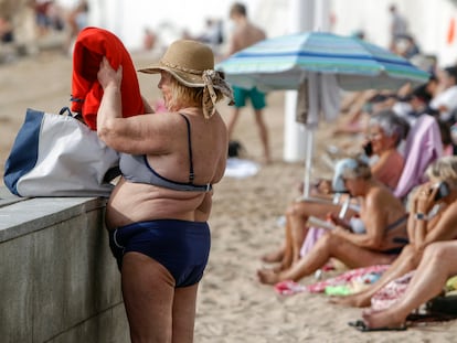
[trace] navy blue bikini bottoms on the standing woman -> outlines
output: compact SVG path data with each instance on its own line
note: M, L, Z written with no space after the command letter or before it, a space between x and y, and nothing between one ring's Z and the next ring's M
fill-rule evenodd
M176 287L192 286L202 279L210 246L210 227L205 222L158 219L109 232L109 247L119 270L125 254L141 253L166 267Z

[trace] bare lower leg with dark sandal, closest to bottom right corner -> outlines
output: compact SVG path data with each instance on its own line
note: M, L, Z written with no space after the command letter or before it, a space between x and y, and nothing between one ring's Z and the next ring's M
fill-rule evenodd
M457 242L429 245L403 298L385 311L365 312L369 328L398 325L421 304L439 294L446 280L457 274Z

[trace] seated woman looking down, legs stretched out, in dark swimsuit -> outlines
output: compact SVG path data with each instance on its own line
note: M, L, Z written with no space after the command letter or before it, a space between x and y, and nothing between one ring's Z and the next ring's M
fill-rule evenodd
M406 238L407 218L402 202L372 178L370 167L361 160L353 159L352 163L348 163L342 179L350 194L360 200L360 219L365 232L353 233L336 221L336 228L319 238L311 250L290 268L258 270L262 283L298 281L321 268L331 257L349 268L360 268L391 264L401 253Z

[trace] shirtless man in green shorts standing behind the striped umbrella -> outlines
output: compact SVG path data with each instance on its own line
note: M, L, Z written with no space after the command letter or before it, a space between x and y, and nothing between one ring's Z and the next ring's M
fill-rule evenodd
M247 10L244 4L238 2L234 3L230 10L230 19L235 23L235 31L233 32L228 43L227 56L266 39L265 32L248 20ZM241 109L246 106L246 99L249 99L251 105L254 108L255 121L264 148L264 160L266 163L269 163L272 157L268 141L268 129L263 118L263 109L266 107L265 94L255 87L252 89L244 89L233 86L233 95L235 106L227 121L228 138L232 138Z

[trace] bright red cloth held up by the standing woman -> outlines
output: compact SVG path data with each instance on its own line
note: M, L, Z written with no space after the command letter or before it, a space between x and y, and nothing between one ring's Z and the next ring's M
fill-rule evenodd
M93 130L97 129L97 111L103 96L97 79L103 56L115 69L123 65L123 117L145 112L137 72L123 42L109 31L86 28L79 32L73 53L72 111L82 114Z

